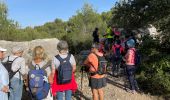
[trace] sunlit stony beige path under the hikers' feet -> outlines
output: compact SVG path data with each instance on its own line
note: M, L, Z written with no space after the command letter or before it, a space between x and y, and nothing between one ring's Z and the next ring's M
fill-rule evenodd
M77 83L79 85L79 90L81 90L81 74L77 77ZM92 93L88 87L88 78L86 73L83 75L83 88L81 91L75 93L73 100L92 100ZM113 77L109 74L106 76L107 86L104 88L104 98L105 100L164 100L161 97L151 96L149 94L144 94L142 92L132 94L127 92L125 88L125 83L127 83L125 76ZM81 99L80 99L81 98Z

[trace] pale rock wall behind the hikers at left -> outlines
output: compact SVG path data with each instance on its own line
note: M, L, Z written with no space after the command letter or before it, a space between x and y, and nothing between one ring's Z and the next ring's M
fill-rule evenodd
M52 39L37 39L33 41L25 41L25 42L12 42L12 41L4 41L0 40L0 46L7 49L6 55L8 56L11 54L11 49L15 45L20 45L24 48L24 54L23 57L26 59L26 61L30 61L32 58L32 50L35 46L42 46L45 49L45 52L48 55L48 58L51 59L53 56L55 56L57 51L57 44L59 40L56 38Z

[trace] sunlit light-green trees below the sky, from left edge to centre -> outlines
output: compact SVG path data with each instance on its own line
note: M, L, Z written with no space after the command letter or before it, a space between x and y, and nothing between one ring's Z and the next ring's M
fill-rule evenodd
M6 5L1 2L0 5L0 39L10 41L30 41L41 38L65 39L69 42L73 53L88 49L92 43L91 34L95 27L98 27L103 34L107 26L106 21L109 19L107 13L100 15L92 5L86 3L66 22L56 18L53 22L47 22L42 26L20 29L17 22L7 19Z

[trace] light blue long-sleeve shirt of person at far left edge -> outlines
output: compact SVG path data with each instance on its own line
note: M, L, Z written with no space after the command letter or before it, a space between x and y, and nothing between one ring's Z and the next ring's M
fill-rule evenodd
M8 100L8 93L2 91L4 86L9 84L9 75L5 67L0 62L0 98L1 100Z

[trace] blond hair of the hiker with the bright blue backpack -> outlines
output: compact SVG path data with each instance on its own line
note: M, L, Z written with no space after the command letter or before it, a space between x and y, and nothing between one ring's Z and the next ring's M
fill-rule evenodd
M36 46L33 49L33 59L45 60L46 58L47 58L47 55L46 55L45 50L42 46Z

